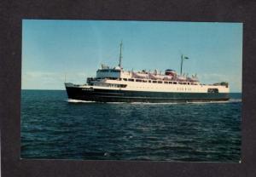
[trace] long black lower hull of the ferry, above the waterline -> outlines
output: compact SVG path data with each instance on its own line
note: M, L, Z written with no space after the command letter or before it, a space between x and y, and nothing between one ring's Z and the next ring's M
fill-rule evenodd
M68 99L98 102L209 102L229 100L228 93L166 93L66 87Z

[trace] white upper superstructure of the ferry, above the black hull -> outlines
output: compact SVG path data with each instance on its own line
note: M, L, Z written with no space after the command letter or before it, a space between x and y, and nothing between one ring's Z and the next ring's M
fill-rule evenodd
M97 88L119 88L122 90L152 91L152 92L186 92L209 93L209 88L218 93L228 93L227 83L202 84L195 78L180 77L173 71L170 75L160 75L147 71L124 71L120 67L102 68L96 71L96 77L89 79L89 84ZM84 85L84 87L86 87Z

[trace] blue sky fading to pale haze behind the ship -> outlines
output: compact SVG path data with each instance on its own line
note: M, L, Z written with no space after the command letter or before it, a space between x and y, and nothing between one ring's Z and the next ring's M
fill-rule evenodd
M242 24L172 21L22 20L22 89L85 83L100 65L180 71L241 92Z

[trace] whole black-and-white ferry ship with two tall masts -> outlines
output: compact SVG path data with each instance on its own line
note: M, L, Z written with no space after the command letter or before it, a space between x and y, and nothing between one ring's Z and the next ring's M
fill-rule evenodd
M119 50L119 65L102 65L96 77L88 77L85 84L66 83L68 99L98 102L207 102L229 100L230 88L226 82L202 84L195 76L181 71L125 71L121 66L122 43Z

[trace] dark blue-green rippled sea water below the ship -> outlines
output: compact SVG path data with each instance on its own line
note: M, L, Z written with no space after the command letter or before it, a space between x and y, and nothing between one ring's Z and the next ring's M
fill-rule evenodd
M241 94L221 103L67 102L22 90L21 158L235 162Z

